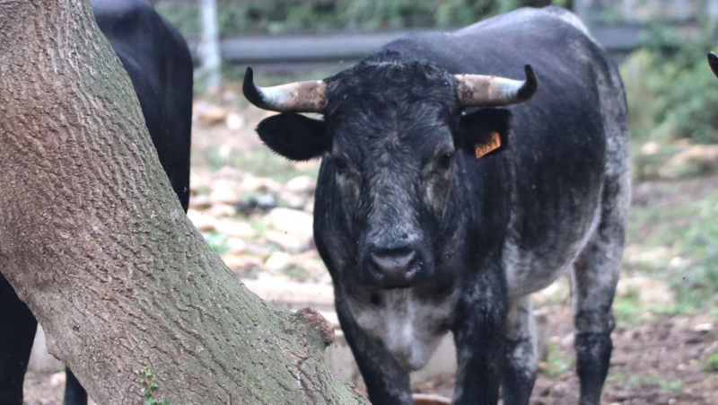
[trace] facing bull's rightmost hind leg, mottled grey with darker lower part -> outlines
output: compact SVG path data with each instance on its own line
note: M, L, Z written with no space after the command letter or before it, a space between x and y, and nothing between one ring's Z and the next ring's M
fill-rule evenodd
M581 404L600 403L613 348L611 304L623 254L628 197L627 193L614 194L614 198L608 199L606 194L604 190L600 224L575 260L572 274L574 346L581 380Z

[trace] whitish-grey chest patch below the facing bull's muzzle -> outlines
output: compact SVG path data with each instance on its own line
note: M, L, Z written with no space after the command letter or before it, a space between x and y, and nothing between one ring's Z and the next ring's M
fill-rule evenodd
M366 334L380 339L407 371L424 367L451 322L455 296L428 303L414 296L411 288L380 294L378 305L355 305L349 300L356 322Z

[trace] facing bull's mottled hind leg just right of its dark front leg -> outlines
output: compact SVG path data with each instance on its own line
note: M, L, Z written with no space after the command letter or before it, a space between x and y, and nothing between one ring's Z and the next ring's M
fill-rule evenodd
M528 404L536 381L536 323L531 296L509 303L506 319L506 365L503 369L503 403Z

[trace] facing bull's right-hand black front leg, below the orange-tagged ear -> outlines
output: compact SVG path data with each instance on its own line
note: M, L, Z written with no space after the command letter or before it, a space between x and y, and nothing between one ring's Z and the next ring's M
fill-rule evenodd
M482 267L457 308L454 339L459 367L453 403L495 404L506 358L508 296L500 265Z

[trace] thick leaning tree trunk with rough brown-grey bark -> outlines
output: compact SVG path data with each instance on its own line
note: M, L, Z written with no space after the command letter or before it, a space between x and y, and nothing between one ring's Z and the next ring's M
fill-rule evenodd
M357 403L189 223L86 0L0 0L0 271L98 403ZM146 367L146 368L145 368Z

